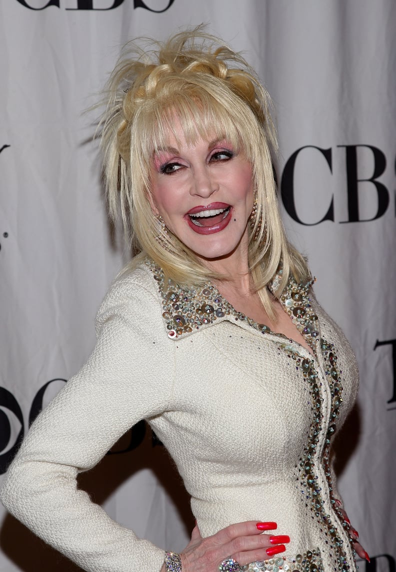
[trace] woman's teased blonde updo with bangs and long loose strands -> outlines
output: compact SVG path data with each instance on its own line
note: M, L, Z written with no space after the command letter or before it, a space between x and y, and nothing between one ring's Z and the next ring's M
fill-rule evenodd
M248 225L249 268L264 308L274 317L266 287L279 266L283 273L276 296L291 274L300 282L310 273L288 243L280 219L270 152L276 150L270 97L244 58L205 34L202 26L164 43L151 42L151 50L136 42L125 46L106 86L100 121L110 216L114 219L121 205L125 232L138 253L129 268L148 256L182 286L224 279L171 232L164 237L167 248L155 238L160 227L149 202L149 173L154 153L167 146L169 134L177 140L176 117L188 143L199 137L225 138L251 162L257 216L254 227Z

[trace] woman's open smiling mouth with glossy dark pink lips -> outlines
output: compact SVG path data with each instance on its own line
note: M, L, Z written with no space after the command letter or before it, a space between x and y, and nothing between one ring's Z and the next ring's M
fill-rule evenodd
M195 206L188 211L187 223L200 235L211 235L222 231L231 220L231 205L225 202L212 202L206 206Z

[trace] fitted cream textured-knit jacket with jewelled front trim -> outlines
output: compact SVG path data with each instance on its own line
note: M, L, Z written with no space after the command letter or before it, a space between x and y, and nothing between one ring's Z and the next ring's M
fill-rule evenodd
M328 460L357 393L342 332L308 287L295 284L282 303L302 332L301 314L319 318L312 335L303 332L315 358L263 333L216 292L205 293L211 309L200 321L195 310L183 317L172 296L194 308L203 293L177 292L152 265L113 284L98 311L96 348L35 420L6 476L3 503L84 570L159 571L163 550L76 488L78 471L145 418L175 459L203 536L234 522L276 521L277 533L290 535L291 562L319 549L319 569L354 569ZM183 328L172 331L170 320Z

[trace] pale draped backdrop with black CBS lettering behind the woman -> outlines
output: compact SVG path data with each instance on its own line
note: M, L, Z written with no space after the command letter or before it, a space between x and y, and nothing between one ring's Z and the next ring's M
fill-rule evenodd
M361 570L394 572L394 0L1 0L0 474L89 355L96 309L126 261L82 112L128 39L201 22L245 52L274 99L284 221L361 371L339 488L372 557ZM141 537L187 543L187 494L144 423L80 486ZM0 522L2 572L77 570L3 509Z

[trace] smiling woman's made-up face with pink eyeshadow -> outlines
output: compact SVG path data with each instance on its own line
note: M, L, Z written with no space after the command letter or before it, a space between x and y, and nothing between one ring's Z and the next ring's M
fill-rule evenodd
M201 259L216 265L245 259L253 208L252 168L225 140L187 145L181 128L153 157L151 204L167 228Z

